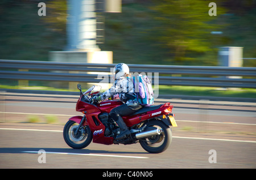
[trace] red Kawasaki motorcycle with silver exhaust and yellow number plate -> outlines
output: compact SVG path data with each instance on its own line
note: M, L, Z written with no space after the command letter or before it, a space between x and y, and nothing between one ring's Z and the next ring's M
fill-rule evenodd
M100 144L134 144L140 143L142 148L150 153L165 151L172 141L172 131L169 126L177 126L170 102L154 106L144 106L134 114L124 116L131 134L123 139L115 139L120 129L109 116L110 110L122 105L120 100L97 102L94 96L101 87L95 86L82 93L76 104L76 111L84 116L69 118L63 130L65 142L74 149L85 148L93 141Z

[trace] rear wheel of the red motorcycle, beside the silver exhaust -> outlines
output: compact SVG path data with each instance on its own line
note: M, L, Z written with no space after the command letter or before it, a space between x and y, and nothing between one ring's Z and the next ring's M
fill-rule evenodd
M150 153L160 153L165 151L172 142L172 131L164 122L158 120L151 120L146 123L145 131L152 130L152 128L159 128L162 130L160 135L150 136L139 140L142 148Z

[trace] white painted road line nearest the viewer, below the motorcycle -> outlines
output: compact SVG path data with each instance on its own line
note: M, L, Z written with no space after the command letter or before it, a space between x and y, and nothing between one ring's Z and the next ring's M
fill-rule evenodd
M38 151L22 151L23 153L38 153ZM70 152L46 152L48 154L58 155L80 155L80 156L104 156L104 157L127 157L127 158L149 158L140 156L119 156L119 155L100 155L100 154L84 154L84 153L70 153Z

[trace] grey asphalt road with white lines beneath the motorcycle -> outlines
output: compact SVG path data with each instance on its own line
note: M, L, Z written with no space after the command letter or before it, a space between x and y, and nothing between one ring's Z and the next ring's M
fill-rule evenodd
M69 148L62 130L69 115L77 115L76 97L2 99L0 168L256 168L254 103L172 100L178 125L172 129L172 143L165 152L150 154L140 144ZM55 114L59 121L24 123L30 114L42 121L44 114ZM40 149L46 152L46 163L39 163Z

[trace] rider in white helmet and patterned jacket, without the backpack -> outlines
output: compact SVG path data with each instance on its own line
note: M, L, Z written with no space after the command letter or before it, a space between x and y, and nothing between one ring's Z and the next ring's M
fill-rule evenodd
M112 109L109 113L121 130L116 139L122 139L123 136L131 134L125 122L123 122L122 116L133 114L141 109L142 106L136 99L132 100L135 97L133 80L130 78L129 67L125 63L119 63L114 67L113 78L115 80L114 85L98 96L96 100L103 101L118 94L120 100L124 102L124 104Z

